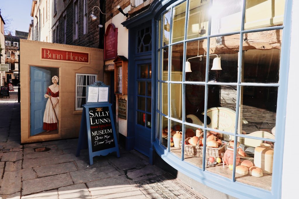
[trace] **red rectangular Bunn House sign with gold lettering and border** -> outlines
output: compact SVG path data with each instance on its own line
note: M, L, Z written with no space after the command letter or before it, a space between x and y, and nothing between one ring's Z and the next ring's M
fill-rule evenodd
M89 53L41 47L41 60L67 61L89 64Z

